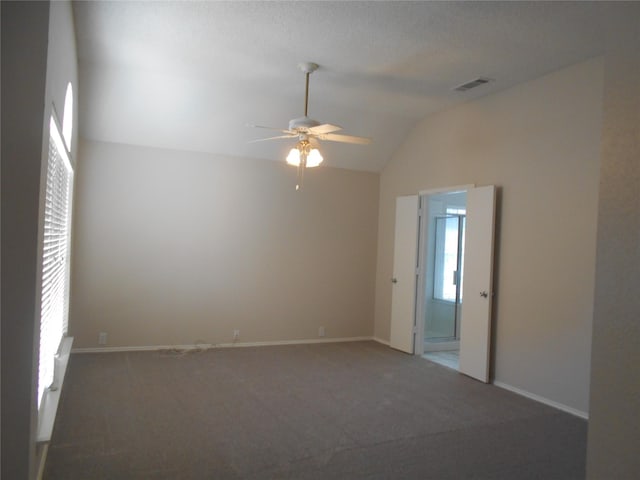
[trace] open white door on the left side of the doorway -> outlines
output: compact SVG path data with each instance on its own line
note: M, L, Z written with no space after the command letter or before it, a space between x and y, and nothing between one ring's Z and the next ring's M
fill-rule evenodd
M418 253L417 195L396 199L396 229L393 247L393 290L389 345L413 353Z

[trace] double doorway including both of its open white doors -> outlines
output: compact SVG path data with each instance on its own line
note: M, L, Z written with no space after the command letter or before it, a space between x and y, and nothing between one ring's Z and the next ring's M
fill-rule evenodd
M424 355L425 345L427 354L459 349L457 370L484 383L489 381L495 205L495 185L397 197L390 278L389 346L415 355ZM435 261L437 224L438 248L452 252L449 260L443 253L442 268ZM447 238L457 249L447 247ZM445 325L432 322L436 305L453 312Z

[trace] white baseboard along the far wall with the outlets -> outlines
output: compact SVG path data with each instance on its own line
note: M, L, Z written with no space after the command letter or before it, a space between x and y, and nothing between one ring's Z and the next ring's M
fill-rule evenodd
M311 343L341 343L375 340L373 337L312 338L302 340L276 340L270 342L198 343L191 345L136 345L127 347L74 348L71 353L144 352L153 350L197 350L210 348L270 347L276 345L305 345ZM382 342L381 342L382 343Z

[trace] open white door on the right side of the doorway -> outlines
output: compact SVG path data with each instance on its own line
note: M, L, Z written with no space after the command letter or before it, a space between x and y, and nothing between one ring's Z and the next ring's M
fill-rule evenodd
M489 381L495 186L467 191L460 372Z

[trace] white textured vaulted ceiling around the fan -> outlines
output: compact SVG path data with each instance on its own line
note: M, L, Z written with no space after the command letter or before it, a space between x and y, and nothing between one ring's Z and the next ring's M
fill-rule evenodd
M327 165L379 171L428 114L603 52L599 2L77 2L81 135L282 160L309 115L368 146L324 142ZM636 10L637 11L637 10ZM495 79L460 93L478 76Z

